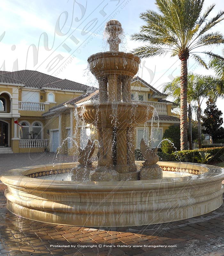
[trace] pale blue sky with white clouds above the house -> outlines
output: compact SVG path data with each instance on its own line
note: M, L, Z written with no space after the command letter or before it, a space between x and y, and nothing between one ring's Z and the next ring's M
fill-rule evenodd
M216 6L211 16L224 9L221 0L214 3ZM210 4L211 1L205 0L205 7ZM125 36L120 50L131 51L140 43L131 41L130 35L139 31L143 24L139 14L147 9L156 10L154 1L1 0L0 70L37 70L95 86L96 81L87 68L87 58L108 50L103 36L106 21L117 19L122 23ZM223 24L216 26L215 30L224 33ZM212 50L220 53L221 49ZM191 59L188 70L214 74ZM162 90L164 83L180 75L180 61L168 55L143 59L138 75ZM224 112L220 100L217 105Z

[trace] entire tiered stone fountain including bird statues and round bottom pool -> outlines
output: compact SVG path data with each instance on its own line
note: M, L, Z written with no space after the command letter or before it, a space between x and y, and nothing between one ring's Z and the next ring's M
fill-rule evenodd
M7 185L8 210L47 223L122 227L183 220L217 209L222 205L223 168L178 162L155 164L156 150L143 140L140 147L146 161L134 162L134 128L151 117L153 108L131 103L130 83L140 60L118 51L122 30L118 21L109 21L106 29L110 52L88 59L99 81L99 104L79 109L80 118L96 125L99 132L99 160L90 175L93 181L66 181L73 169L94 169L90 161L94 143L89 141L85 150L79 150L79 163L5 172L0 179ZM62 174L62 180L57 179Z

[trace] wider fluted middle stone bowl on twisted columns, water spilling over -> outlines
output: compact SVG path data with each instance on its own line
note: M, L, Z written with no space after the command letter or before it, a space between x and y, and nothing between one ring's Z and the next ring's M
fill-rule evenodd
M154 107L146 104L129 102L86 104L78 107L80 118L89 124L130 126L145 123L152 117Z

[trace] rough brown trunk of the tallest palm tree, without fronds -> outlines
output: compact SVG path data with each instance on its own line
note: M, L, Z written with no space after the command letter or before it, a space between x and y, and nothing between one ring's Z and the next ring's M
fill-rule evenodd
M180 150L188 149L188 55L181 54L181 75L180 75Z

